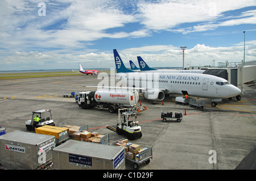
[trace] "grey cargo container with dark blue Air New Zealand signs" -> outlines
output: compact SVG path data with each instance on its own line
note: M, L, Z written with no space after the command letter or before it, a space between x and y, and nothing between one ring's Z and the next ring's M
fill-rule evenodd
M125 149L68 140L53 149L53 169L125 170Z

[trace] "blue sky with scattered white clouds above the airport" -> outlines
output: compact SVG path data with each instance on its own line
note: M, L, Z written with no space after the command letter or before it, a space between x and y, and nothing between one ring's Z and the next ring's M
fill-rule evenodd
M43 5L42 5L43 3ZM45 5L45 6L44 6ZM46 12L45 16L42 14ZM256 1L0 1L0 71L256 60Z

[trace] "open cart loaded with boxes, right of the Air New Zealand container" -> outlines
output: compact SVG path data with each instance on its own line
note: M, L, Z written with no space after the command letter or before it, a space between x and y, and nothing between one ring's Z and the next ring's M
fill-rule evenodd
M133 162L134 169L139 169L141 164L147 165L152 159L152 148L141 149L140 145L132 144L125 138L112 142L112 145L125 147L125 159Z

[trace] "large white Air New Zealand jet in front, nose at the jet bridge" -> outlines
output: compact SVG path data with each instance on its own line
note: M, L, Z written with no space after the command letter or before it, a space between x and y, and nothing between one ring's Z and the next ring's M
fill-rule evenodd
M233 96L236 96L237 100L241 99L241 90L224 78L197 73L134 72L125 67L116 49L113 52L115 67L121 81L128 88L143 92L145 99L163 100L164 94L188 94L212 99L213 107L220 99Z

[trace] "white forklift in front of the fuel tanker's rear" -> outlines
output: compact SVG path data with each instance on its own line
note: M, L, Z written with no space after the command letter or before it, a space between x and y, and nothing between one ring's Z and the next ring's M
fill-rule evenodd
M141 138L142 132L136 113L127 109L118 110L116 132L125 135L129 140Z

